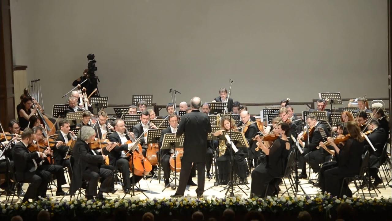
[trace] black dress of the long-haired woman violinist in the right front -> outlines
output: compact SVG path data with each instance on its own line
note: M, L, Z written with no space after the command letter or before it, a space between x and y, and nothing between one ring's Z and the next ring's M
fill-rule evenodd
M338 166L325 170L324 178L320 180L322 192L327 191L332 196L342 197L346 195L347 197L352 197L352 192L348 188L347 182L343 184L342 195L339 196L339 192L344 177L358 174L359 168L361 167L363 145L363 142L359 142L354 138L346 141L344 147L337 154Z

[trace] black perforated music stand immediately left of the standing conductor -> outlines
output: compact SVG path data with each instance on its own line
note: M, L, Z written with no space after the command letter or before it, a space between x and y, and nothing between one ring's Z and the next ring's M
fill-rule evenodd
M184 134L182 136L180 136L180 138L176 138L175 133L167 133L163 136L161 149L173 149L174 150L174 178L171 178L169 180L170 181L169 184L167 184L165 186L165 188L162 190L162 192L165 191L166 188L168 188L173 181L174 181L174 187L171 188L172 190L175 190L177 188L177 180L178 180L178 183L180 183L180 179L177 178L176 149L184 147L184 138L185 138ZM181 159L179 159L179 160L181 160Z

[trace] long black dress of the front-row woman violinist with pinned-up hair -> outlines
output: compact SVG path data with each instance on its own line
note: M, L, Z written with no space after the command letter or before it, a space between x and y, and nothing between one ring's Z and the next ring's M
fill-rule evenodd
M250 197L264 197L265 192L267 192L267 195L272 195L278 190L275 185L275 178L282 177L286 167L289 155L286 143L289 143L289 141L281 138L276 139L269 149L269 155L266 155L265 163L260 164L252 171ZM271 184L267 190L269 183Z

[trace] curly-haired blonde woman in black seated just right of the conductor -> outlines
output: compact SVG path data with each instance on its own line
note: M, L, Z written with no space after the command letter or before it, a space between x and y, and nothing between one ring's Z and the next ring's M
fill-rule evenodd
M224 154L221 155L218 159L216 159L216 163L218 165L218 177L220 179L221 184L227 184L230 181L230 177L232 174L232 162L231 162L231 154L234 154L234 165L235 165L235 172L236 175L240 178L240 182L246 183L247 180L247 162L245 160L245 153L243 149L238 148L238 151L234 153L230 153L231 147L228 142L226 142L226 138L223 136L222 131L236 131L236 122L230 116L224 116L221 120L219 131L214 133L214 136L218 136L219 138L219 149L224 150ZM234 145L236 142L234 142Z

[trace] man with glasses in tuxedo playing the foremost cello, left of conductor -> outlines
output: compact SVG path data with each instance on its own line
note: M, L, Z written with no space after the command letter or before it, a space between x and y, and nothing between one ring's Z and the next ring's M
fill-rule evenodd
M126 156L126 152L132 148L132 144L125 144L128 140L131 140L129 136L133 136L133 133L125 133L125 122L122 119L116 119L114 121L114 132L109 135L111 142L116 142L118 145L109 152L109 164L118 168L123 177L123 192L127 193L131 188L131 179L129 179L129 158ZM135 175L135 184L141 180L142 177Z

